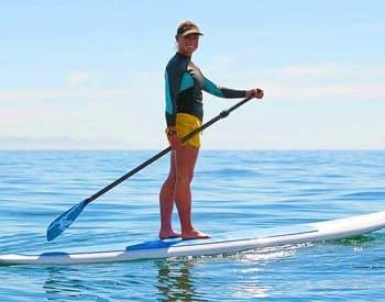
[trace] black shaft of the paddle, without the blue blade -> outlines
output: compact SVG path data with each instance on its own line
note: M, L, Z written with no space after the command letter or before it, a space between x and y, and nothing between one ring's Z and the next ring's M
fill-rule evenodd
M218 122L221 119L227 118L233 110L235 110L237 108L243 105L244 103L246 103L248 101L250 101L252 98L246 98L243 99L242 101L238 102L237 104L234 104L233 107L229 108L228 110L223 110L221 113L219 113L217 116L215 116L213 119L211 119L210 121L208 121L207 123L202 124L200 127L191 131L189 134L187 134L186 136L182 137L182 143L185 143L186 141L190 139L194 135L198 134L199 132L204 131L205 128L211 126L213 123ZM100 191L96 192L94 195L89 197L88 199L85 200L86 204L90 203L91 201L96 200L97 198L99 198L100 195L102 195L103 193L108 192L109 190L111 190L112 188L114 188L116 186L118 186L119 183L123 182L125 179L128 179L129 177L133 176L134 174L139 172L140 170L142 170L143 168L147 167L148 165L151 165L152 163L154 163L155 160L157 160L158 158L161 158L162 156L166 155L168 152L172 150L172 147L167 147L164 150L157 153L156 155L154 155L153 157L151 157L150 159L147 159L146 161L144 161L143 164L139 165L136 168L132 169L131 171L127 172L125 175L123 175L122 177L118 178L116 181L111 182L110 184L108 184L107 187L105 187L103 189L101 189Z

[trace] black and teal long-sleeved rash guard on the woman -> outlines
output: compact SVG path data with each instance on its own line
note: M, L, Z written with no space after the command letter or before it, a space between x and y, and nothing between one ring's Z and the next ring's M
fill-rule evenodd
M234 90L215 85L194 65L190 57L180 53L166 67L166 122L175 126L176 113L204 118L202 90L220 98L244 98L245 90Z

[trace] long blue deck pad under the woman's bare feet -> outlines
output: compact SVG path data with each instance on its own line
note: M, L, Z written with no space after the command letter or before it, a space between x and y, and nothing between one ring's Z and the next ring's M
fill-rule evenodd
M254 232L231 232L213 235L208 239L194 239L194 241L183 241L180 238L173 239L156 239L143 242L140 244L134 244L128 246L127 250L143 250L143 249L156 249L156 248L168 248L172 246L193 246L193 245L204 245L213 244L221 242L238 242L253 238L265 238L265 237L279 237L288 236L304 233L314 233L318 230L309 225L293 225L293 226L278 226L270 228L261 228Z

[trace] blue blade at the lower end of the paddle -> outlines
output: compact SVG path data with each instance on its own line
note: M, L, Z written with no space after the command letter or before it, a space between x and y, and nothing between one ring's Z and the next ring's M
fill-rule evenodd
M64 212L56 220L54 220L47 228L47 241L51 242L61 235L72 223L80 215L81 211L86 208L86 201L74 205L68 211Z

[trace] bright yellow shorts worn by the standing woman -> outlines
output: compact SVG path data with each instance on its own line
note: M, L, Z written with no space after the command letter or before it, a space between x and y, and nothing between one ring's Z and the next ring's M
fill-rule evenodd
M197 116L188 113L177 113L176 114L176 133L179 138L185 137L187 134L191 133L194 130L201 126L201 122ZM197 133L190 139L185 142L183 146L189 145L196 148L200 147L200 136L201 133Z

